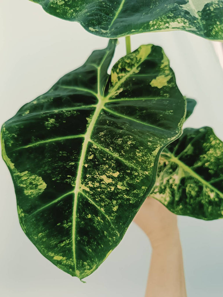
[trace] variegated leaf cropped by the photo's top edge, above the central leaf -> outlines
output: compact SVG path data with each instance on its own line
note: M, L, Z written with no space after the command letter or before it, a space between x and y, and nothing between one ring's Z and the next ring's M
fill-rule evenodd
M109 38L150 31L184 30L223 40L222 0L30 0L58 18L79 22Z

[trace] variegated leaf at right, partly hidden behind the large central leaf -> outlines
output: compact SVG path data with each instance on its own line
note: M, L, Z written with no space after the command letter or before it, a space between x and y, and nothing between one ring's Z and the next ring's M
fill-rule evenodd
M211 128L186 128L164 149L150 195L175 214L223 217L223 142Z

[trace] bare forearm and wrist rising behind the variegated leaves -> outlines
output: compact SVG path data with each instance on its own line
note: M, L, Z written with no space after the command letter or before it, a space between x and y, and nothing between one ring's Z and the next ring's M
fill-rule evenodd
M177 216L147 197L134 222L146 233L153 248L145 297L186 297Z

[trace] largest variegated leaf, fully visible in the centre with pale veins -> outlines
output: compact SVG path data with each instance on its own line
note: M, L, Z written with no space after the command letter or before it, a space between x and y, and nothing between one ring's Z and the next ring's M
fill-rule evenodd
M94 51L2 128L24 232L80 279L122 239L185 113L160 47L142 45L108 75L115 44Z

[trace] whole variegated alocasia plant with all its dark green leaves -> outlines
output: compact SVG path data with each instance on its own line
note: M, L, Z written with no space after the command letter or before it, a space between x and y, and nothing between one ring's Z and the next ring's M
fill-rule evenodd
M221 0L34 2L104 37L181 29L223 39ZM116 43L94 51L1 129L23 231L80 279L119 244L149 194L176 214L223 217L222 141L208 127L180 136L196 102L181 95L159 46L140 46L109 75Z

